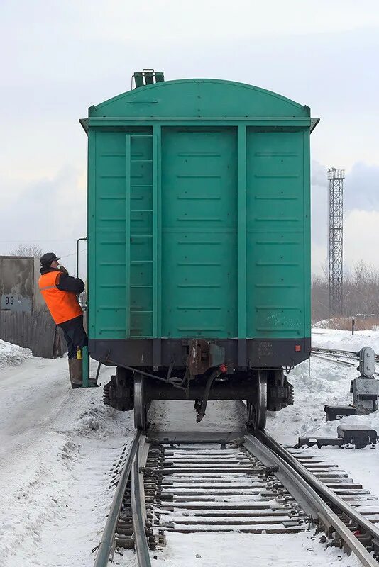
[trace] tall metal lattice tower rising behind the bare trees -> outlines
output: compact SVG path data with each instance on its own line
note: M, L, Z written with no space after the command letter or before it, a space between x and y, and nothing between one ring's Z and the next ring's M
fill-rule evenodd
M344 169L328 169L329 179L329 312L342 315L342 245L344 228Z

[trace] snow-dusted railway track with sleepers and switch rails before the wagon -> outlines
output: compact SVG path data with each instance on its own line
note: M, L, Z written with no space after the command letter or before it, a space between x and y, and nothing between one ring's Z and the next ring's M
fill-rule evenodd
M139 567L170 532L285 534L323 530L378 567L379 500L312 451L288 451L263 431L136 432L125 455L94 567L135 549Z

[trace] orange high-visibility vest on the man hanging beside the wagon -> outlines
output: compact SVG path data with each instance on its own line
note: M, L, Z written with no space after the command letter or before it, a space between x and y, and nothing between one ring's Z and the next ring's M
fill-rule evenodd
M61 274L62 272L60 271L48 271L47 274L40 276L38 280L40 293L42 293L56 325L83 314L76 293L73 291L62 291L57 288Z

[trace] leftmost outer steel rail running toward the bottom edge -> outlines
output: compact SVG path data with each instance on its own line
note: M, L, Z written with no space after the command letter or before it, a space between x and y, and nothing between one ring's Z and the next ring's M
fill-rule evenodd
M116 525L117 520L119 519L123 495L125 493L128 480L131 476L131 468L133 461L135 461L136 453L138 452L140 440L141 431L136 431L133 442L131 444L131 449L121 471L119 483L117 484L117 488L114 493L114 498L111 503L111 510L106 519L104 532L99 543L99 550L97 551L97 556L94 561L94 567L106 567L109 563L109 556L114 546L114 534L116 532Z

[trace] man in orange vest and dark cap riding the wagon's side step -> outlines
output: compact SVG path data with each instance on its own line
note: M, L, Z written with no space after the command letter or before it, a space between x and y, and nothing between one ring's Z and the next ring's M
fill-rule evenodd
M65 268L59 267L59 260L53 252L40 257L38 284L55 324L65 335L71 386L80 388L83 383L82 348L87 346L88 337L77 297L84 290L84 281L69 276Z

